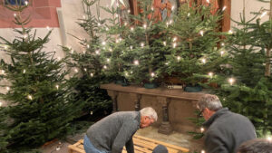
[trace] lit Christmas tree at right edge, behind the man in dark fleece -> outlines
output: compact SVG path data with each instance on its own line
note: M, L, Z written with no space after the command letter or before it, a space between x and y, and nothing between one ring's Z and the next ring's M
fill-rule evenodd
M270 9L272 6L271 1ZM245 4L245 1L244 1ZM258 136L272 131L272 97L270 52L272 47L272 15L264 21L262 9L249 20L245 7L238 27L228 35L228 68L219 73L217 89L223 104L247 116L255 125Z

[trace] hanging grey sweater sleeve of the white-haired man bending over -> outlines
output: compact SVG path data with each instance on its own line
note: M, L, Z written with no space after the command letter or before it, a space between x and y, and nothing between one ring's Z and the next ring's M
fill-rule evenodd
M137 126L135 126L134 123L123 123L112 144L112 153L121 153L121 150L125 145L126 148L129 147L127 148L128 153L134 153L133 148L131 148L131 146L133 146L133 141L131 140L131 137L136 130Z

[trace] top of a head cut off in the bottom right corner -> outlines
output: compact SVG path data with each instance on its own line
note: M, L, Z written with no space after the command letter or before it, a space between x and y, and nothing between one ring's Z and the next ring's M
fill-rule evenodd
M242 143L238 153L272 153L272 141L267 139L251 139Z

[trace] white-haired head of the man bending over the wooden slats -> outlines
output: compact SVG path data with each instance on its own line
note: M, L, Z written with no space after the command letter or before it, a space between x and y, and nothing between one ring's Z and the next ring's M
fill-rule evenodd
M153 122L158 120L157 112L151 107L141 109L140 113L141 113L140 128L149 127Z

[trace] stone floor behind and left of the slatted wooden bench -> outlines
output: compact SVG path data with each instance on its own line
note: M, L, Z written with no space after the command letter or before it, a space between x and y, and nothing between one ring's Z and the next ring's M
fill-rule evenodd
M158 133L158 129L149 127L146 129L139 129L136 132L137 135L141 135L151 139L158 139L173 145L177 145L183 148L189 148L190 151L201 150L202 141L191 139L189 134L182 134L173 131L170 135L164 135ZM68 146L75 143L79 139L83 139L84 134L78 134L71 136L66 141L55 141L50 145L42 148L43 153L68 153Z

